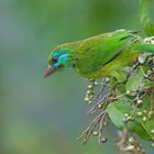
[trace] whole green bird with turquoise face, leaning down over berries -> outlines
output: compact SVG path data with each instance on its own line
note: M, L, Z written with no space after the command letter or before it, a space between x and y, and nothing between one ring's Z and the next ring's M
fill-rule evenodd
M139 31L117 30L57 46L48 56L44 77L67 67L89 79L113 77L120 80L124 68L132 66L141 53L154 54Z

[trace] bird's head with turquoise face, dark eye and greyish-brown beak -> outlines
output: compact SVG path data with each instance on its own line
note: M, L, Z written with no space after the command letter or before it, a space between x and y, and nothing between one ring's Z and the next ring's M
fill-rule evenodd
M48 77L55 72L69 66L69 51L70 48L57 47L48 56L48 68L44 74L44 77Z

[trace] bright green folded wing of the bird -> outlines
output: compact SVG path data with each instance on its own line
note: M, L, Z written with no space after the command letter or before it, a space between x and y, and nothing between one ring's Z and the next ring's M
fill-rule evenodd
M77 68L80 73L90 74L117 58L131 42L138 38L135 32L125 30L106 33L87 38L76 48L78 55Z

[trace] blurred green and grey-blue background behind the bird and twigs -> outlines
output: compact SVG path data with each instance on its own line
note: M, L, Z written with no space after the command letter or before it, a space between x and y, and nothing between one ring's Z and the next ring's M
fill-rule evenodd
M56 45L117 29L140 30L136 0L0 0L0 154L114 154L87 145L87 81L73 70L44 79ZM147 153L150 145L144 143Z

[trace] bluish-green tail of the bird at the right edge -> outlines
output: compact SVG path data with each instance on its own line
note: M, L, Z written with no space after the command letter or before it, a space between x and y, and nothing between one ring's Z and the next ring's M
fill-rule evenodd
M154 37L147 37L144 41L139 41L133 43L133 50L143 53L154 54Z

